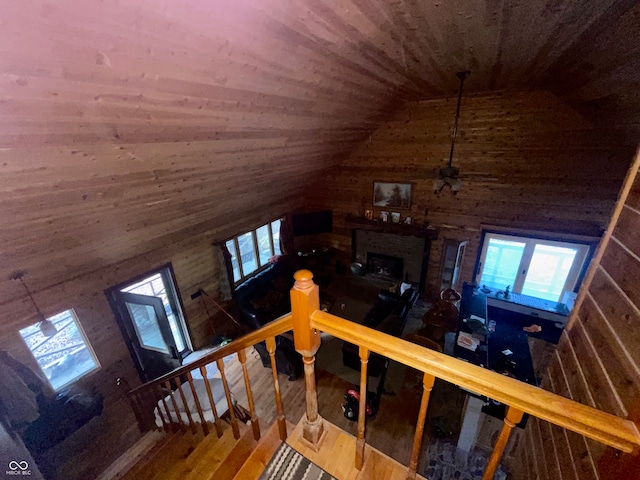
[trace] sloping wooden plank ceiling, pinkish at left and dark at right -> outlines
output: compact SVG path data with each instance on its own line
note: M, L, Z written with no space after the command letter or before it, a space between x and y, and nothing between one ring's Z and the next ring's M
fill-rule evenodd
M3 2L1 302L16 270L38 290L300 205L460 70L637 134L639 27L613 0Z

